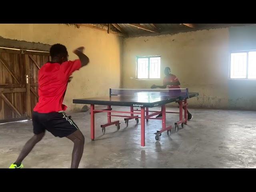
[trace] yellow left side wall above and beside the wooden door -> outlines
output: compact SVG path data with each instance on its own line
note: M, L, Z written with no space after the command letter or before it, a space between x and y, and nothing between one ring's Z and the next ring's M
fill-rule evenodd
M73 98L105 96L109 94L109 88L120 86L122 38L114 34L64 24L0 24L0 36L50 45L64 44L70 60L77 58L73 49L85 46L90 63L73 74L64 99L68 110L82 107L72 104Z

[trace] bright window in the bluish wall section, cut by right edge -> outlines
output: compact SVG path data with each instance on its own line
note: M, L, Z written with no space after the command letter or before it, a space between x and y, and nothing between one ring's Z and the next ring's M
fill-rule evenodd
M256 80L256 51L231 53L230 78Z

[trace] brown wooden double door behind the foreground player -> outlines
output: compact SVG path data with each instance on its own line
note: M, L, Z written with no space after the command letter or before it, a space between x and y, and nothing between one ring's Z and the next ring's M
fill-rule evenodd
M0 48L0 123L31 119L38 70L49 60L49 52Z

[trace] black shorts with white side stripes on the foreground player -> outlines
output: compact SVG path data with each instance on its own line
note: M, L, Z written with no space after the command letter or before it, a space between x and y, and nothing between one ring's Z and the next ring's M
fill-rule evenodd
M56 137L66 137L78 130L74 121L65 112L32 113L34 134L48 130Z

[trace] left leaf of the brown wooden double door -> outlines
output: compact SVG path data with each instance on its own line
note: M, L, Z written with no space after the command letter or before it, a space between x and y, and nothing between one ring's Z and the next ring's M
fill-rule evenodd
M0 123L27 118L24 57L0 48Z

